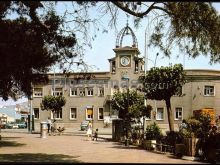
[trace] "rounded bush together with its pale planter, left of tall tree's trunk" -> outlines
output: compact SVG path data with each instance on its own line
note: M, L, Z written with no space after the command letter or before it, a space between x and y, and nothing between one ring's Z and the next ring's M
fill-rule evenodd
M154 122L147 126L145 131L144 148L152 150L156 148L156 143L161 139L162 133L160 127Z

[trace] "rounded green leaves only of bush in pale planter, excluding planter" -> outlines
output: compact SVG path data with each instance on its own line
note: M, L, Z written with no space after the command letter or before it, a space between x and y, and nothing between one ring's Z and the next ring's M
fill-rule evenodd
M162 137L161 129L157 123L147 125L145 131L146 140L160 140Z

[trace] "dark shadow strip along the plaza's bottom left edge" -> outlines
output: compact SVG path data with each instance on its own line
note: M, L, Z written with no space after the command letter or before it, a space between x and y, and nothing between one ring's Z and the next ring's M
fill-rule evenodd
M0 162L31 162L33 163L83 163L76 160L79 156L69 156L63 154L42 154L42 153L17 153L0 154Z

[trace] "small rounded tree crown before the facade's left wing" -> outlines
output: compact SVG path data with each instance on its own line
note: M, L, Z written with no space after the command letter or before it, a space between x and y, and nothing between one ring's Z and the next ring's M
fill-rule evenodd
M44 96L41 103L42 110L51 110L52 112L56 110L62 110L62 107L66 104L66 99L64 96Z

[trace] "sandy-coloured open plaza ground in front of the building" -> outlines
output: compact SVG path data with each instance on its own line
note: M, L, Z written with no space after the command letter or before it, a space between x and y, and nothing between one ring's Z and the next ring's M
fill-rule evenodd
M2 131L0 162L46 163L166 163L201 164L201 162L177 159L170 154L159 154L126 147L100 135L98 141L88 140L85 133L47 136L19 131Z

